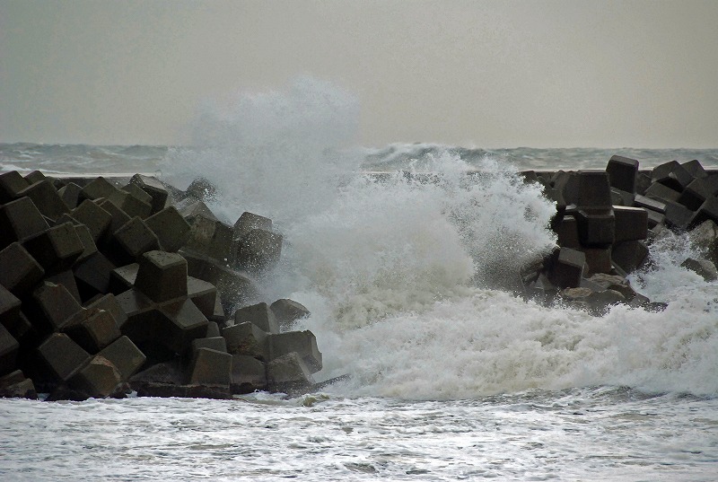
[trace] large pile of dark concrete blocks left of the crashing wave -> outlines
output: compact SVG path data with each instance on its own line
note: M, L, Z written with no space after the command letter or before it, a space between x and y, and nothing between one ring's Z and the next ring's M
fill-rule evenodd
M176 376L138 392L226 399L267 390L275 359L275 386L310 387L313 336L268 341L277 318L286 331L309 311L257 303L250 279L278 262L271 220L245 213L232 227L202 203L171 206L180 191L159 180L119 185L0 175L0 396L123 396L124 382L171 364ZM281 374L287 366L310 375Z

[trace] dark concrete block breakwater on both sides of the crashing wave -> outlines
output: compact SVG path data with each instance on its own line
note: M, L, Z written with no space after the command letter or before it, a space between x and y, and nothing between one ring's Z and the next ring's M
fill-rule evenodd
M604 171L524 171L556 202L557 246L524 267L527 299L605 313L658 311L626 276L648 247L687 232L718 276L718 172L697 161L640 171L613 156ZM0 397L230 399L254 390L317 390L316 337L293 330L310 312L261 302L256 280L281 257L262 215L233 225L206 205L214 187L180 190L153 177L53 179L0 174Z

